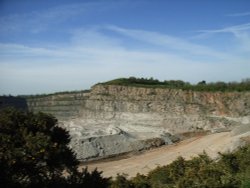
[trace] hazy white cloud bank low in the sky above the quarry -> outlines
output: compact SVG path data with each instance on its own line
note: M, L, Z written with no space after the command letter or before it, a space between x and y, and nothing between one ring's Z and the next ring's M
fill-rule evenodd
M248 59L235 54L215 53L209 47L160 33L108 28L138 40L141 45L131 49L126 38L107 35L105 29L78 29L71 33L70 43L53 48L0 44L1 92L27 94L88 89L97 82L128 76L191 82L232 81L249 76ZM145 43L150 48L141 47ZM155 50L158 45L163 50ZM175 50L164 50L169 48Z

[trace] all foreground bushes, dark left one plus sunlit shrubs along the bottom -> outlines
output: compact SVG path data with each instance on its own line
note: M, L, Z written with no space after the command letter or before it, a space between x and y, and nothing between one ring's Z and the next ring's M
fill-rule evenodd
M47 114L4 109L0 111L1 187L250 187L250 144L212 160L206 153L179 157L148 175L128 179L103 178L97 170L77 170L79 162L67 147L69 134Z

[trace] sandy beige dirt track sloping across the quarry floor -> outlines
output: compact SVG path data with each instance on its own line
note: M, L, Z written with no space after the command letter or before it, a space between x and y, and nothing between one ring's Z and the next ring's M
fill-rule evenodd
M205 150L212 158L215 158L218 156L218 152L226 151L231 141L230 132L197 136L174 145L145 151L142 154L126 159L91 163L88 164L88 169L93 170L97 168L99 171L103 171L103 176L105 177L116 176L118 173L124 173L129 177L133 177L137 173L147 174L159 165L169 164L178 156L189 159Z

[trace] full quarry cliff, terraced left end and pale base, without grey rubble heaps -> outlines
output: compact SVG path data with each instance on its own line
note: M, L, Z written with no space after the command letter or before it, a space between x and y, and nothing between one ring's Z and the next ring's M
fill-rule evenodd
M27 104L30 110L51 113L59 120L80 118L118 124L131 121L131 125L164 126L174 132L219 126L220 119L230 125L233 120L248 121L250 116L250 92L96 85L87 93L30 98Z

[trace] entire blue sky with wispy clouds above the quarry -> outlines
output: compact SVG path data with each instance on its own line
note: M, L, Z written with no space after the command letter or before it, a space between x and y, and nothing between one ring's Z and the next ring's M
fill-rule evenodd
M250 77L249 0L0 0L0 94Z

